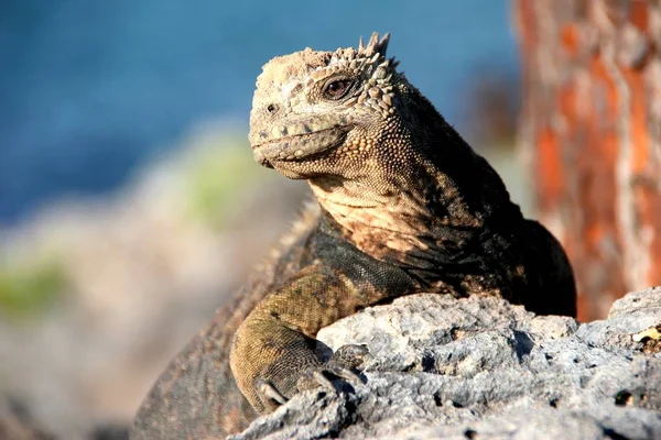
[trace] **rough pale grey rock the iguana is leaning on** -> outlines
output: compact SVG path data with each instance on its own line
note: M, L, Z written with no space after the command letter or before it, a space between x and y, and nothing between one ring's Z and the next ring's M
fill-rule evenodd
M415 295L323 329L366 344L365 384L301 394L239 439L661 439L661 287L579 324Z

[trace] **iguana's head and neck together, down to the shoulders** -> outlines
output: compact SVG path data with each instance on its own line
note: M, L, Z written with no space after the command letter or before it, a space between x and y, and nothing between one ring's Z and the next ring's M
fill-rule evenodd
M267 63L250 144L262 165L307 179L360 250L416 265L414 252L462 246L511 204L494 169L395 70L388 41L375 33L358 50L306 48Z

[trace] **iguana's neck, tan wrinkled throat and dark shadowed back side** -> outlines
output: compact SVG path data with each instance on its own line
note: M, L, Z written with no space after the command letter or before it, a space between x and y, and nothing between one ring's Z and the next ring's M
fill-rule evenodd
M346 240L378 260L413 267L460 257L495 217L521 218L496 172L426 99L416 98L408 124L419 129L386 133L373 148L397 151L395 167L380 167L393 161L377 156L375 169L361 176L310 180Z

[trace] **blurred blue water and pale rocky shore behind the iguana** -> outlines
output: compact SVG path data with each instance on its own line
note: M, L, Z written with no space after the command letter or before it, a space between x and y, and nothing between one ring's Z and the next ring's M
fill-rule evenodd
M126 435L306 195L252 161L261 65L372 31L529 210L506 1L0 2L0 425Z

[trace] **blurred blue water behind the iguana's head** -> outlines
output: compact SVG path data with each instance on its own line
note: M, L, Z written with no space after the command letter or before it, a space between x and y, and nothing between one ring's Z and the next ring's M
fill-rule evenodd
M372 31L459 127L466 77L516 66L506 1L1 0L0 223L120 185L196 122L246 130L264 62Z

